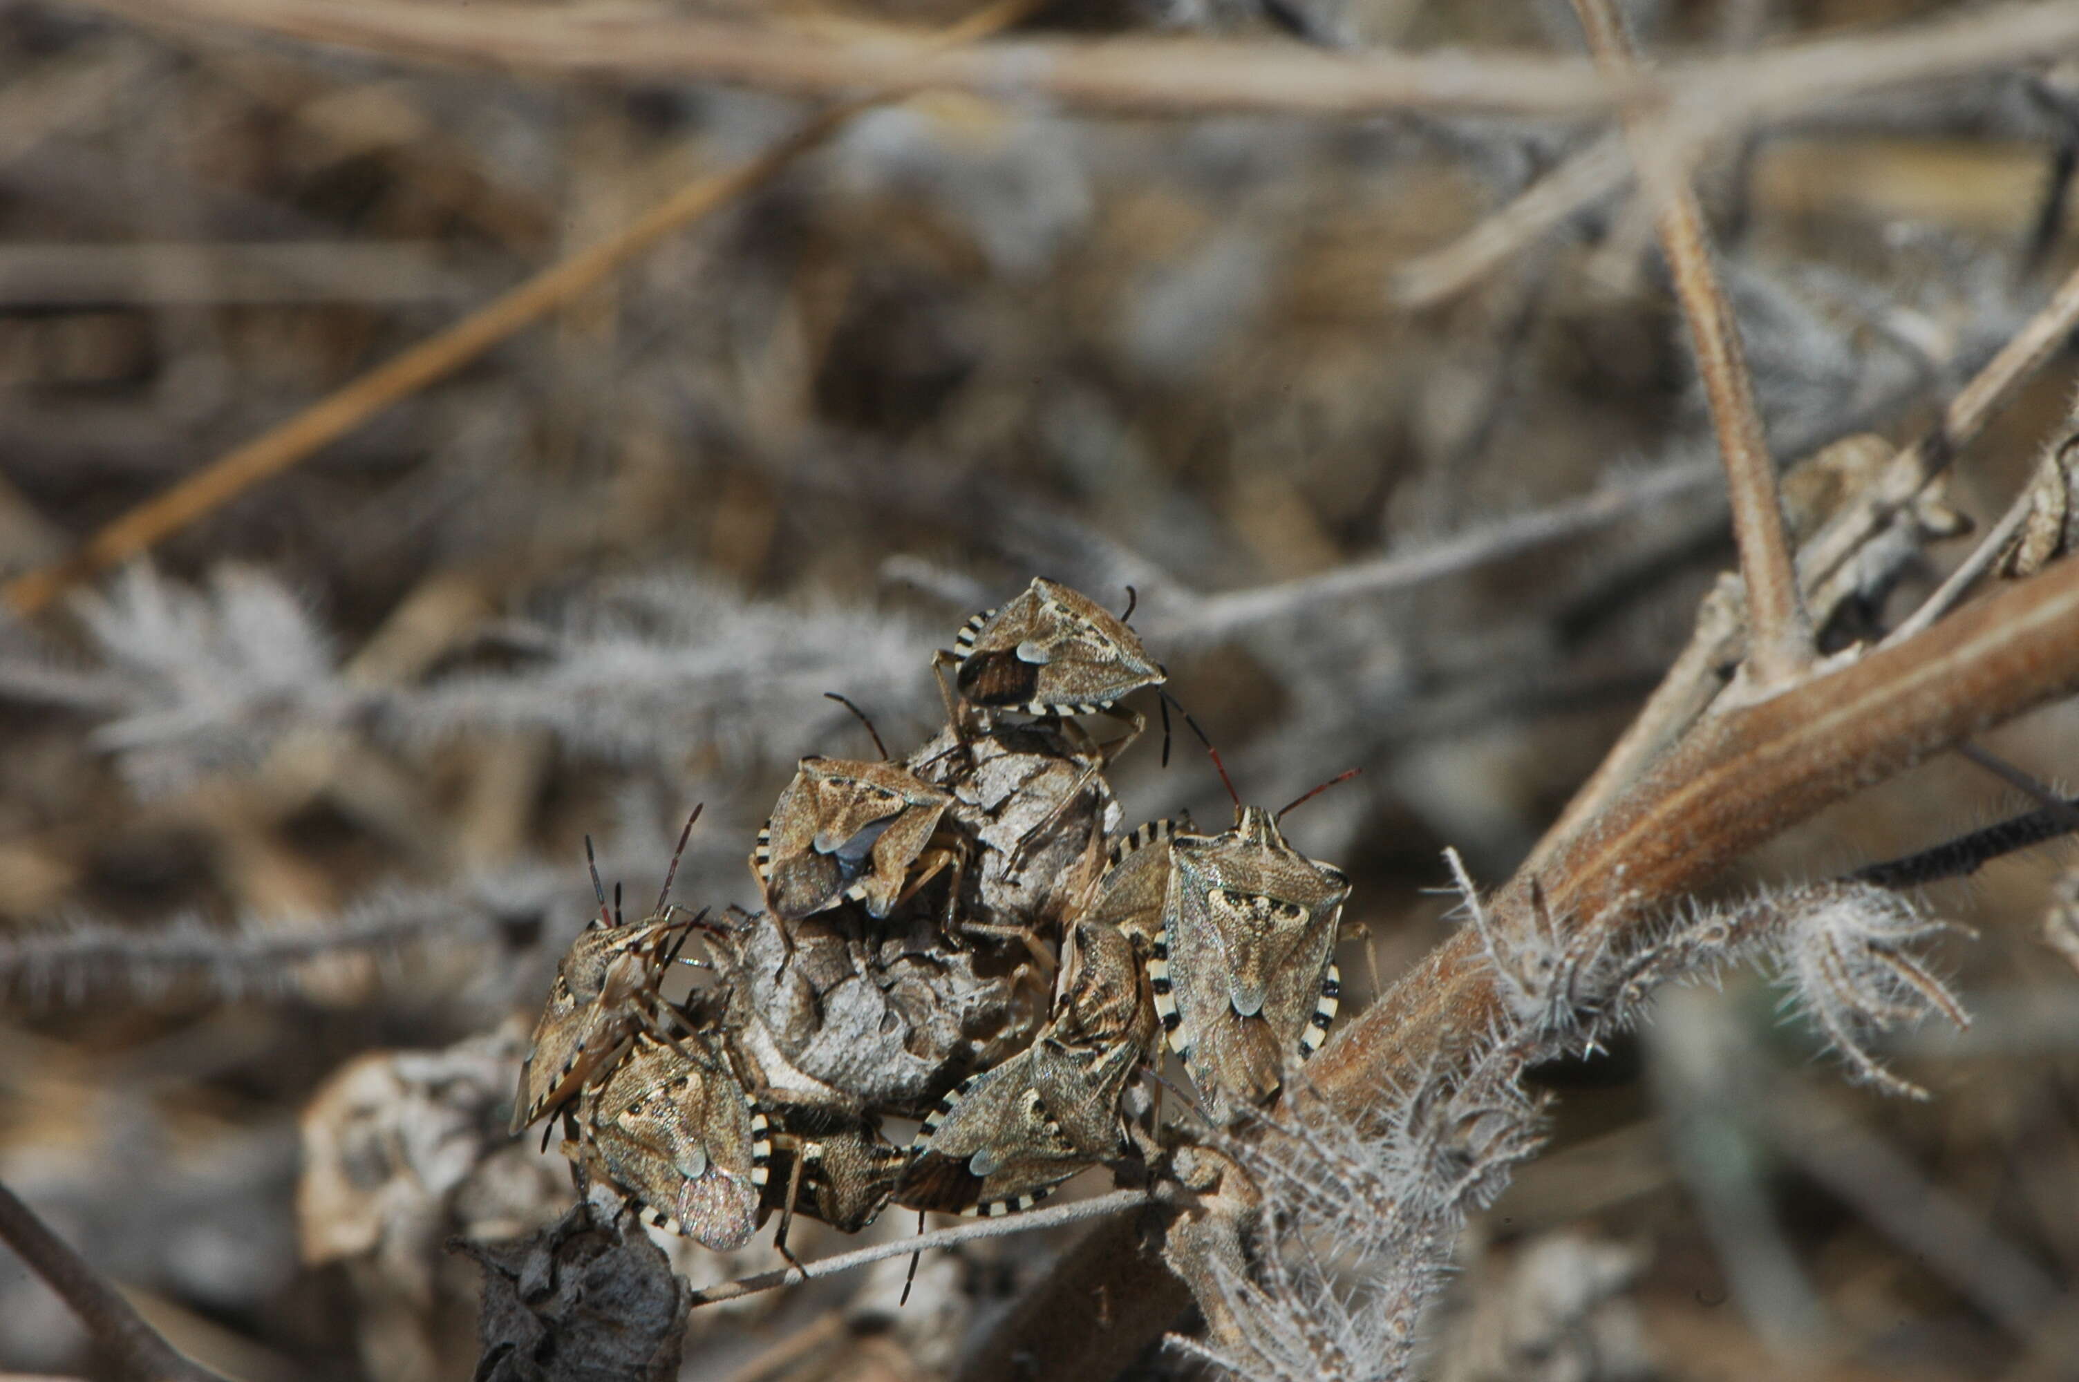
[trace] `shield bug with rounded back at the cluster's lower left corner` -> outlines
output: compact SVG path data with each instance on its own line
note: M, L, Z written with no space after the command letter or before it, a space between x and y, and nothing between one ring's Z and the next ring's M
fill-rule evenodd
M771 1139L707 1037L640 1033L580 1108L580 1164L659 1228L742 1247L759 1222Z

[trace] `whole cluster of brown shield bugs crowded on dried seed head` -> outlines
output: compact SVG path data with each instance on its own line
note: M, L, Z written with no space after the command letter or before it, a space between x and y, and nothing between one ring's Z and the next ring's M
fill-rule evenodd
M1204 1116L1268 1101L1335 1018L1349 879L1256 806L1119 831L1106 767L1146 727L1119 700L1164 682L1127 617L1033 580L969 619L936 738L896 761L867 721L879 759L800 761L751 856L763 910L688 912L667 875L622 923L595 869L514 1131L557 1118L580 1189L713 1249L778 1210L786 1251L794 1214L1012 1214L1158 1158L1137 1077L1164 1035ZM669 1002L676 962L707 977Z

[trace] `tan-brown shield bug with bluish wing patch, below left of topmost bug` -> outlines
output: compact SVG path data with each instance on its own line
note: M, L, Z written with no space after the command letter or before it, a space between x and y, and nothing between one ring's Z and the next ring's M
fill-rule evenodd
M802 759L751 856L765 906L798 921L854 900L888 916L900 898L954 862L950 848L929 848L948 804L950 796L900 763ZM919 865L923 873L911 881Z

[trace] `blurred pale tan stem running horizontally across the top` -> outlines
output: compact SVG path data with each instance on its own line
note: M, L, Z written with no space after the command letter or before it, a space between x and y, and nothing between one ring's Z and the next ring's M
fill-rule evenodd
M786 25L659 17L620 6L516 10L412 0L77 0L150 23L264 29L393 58L559 75L674 77L792 96L960 87L1079 110L1210 114L1605 114L1630 98L1682 98L1721 127L1859 91L2037 62L2079 46L2069 0L1971 10L1892 33L1784 44L1678 62L1611 85L1580 60L1514 52L1343 54L1208 39L1025 39L979 52L832 44Z

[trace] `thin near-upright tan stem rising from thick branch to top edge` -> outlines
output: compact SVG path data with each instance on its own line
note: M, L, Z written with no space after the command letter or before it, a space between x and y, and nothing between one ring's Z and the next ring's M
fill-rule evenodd
M1632 73L1632 42L1624 33L1611 0L1574 0L1574 12L1588 35L1588 50L1603 71L1617 79ZM1626 108L1624 129L1632 141L1640 183L1653 197L1667 272L1696 347L1696 372L1711 401L1719 459L1726 463L1726 497L1732 501L1732 536L1740 547L1740 578L1746 582L1746 667L1757 688L1794 680L1813 661L1813 630L1798 596L1790 563L1790 534L1775 493L1775 461L1755 407L1755 382L1740 347L1740 322L1711 262L1711 235L1703 206L1676 164L1649 148L1636 108Z

